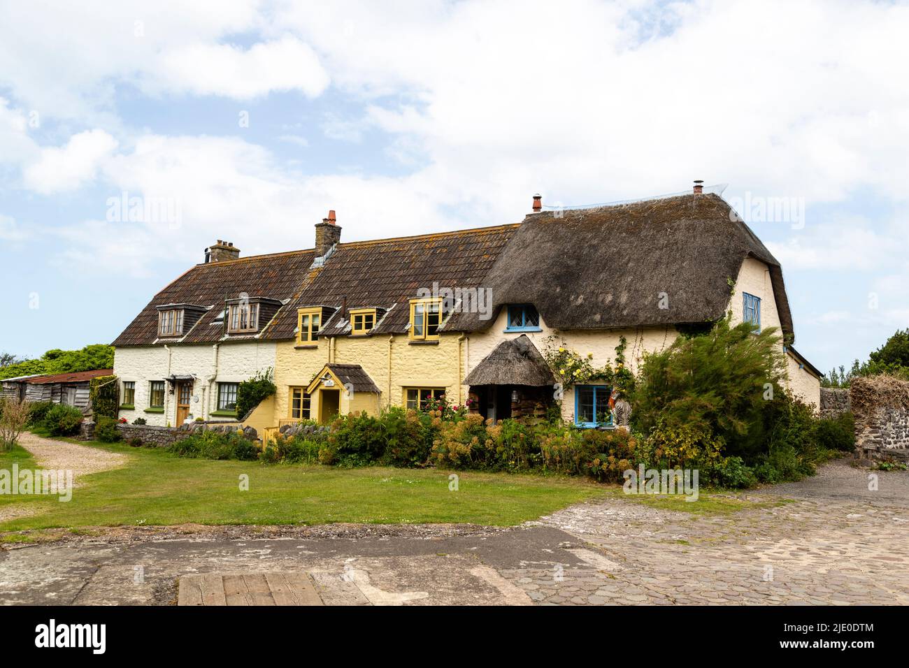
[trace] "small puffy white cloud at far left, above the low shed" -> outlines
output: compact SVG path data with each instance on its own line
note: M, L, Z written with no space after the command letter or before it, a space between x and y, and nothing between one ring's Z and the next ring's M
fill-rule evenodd
M25 167L23 181L41 194L75 190L95 178L98 167L116 145L114 137L104 130L73 135L64 146L42 149L38 159Z

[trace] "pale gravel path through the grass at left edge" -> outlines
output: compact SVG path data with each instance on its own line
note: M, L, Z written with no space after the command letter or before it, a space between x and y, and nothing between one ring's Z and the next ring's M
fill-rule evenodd
M38 468L72 471L75 487L79 486L79 478L83 475L120 468L129 461L129 457L125 454L108 453L99 448L56 441L28 432L22 434L19 444L35 455ZM27 517L34 513L35 508L32 507L18 503L7 505L0 508L0 523L17 517Z

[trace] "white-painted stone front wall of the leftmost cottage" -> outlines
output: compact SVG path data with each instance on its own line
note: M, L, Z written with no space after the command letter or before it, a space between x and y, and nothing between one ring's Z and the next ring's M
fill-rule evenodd
M117 348L114 374L120 380L121 391L123 383L135 383L135 409L121 410L120 416L129 422L144 417L148 424L175 426L175 396L171 394L169 384L165 384L165 412L145 413L151 382L163 380L170 375L190 374L196 378L190 412L194 417L216 420L218 418L211 413L217 408L218 383L240 383L256 372L274 366L274 342ZM195 401L196 398L198 401Z

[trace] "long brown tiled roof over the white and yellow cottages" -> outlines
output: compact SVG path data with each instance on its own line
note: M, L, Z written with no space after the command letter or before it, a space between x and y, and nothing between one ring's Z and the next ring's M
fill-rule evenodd
M410 320L409 300L419 289L432 290L434 283L451 289L479 287L517 227L509 224L337 244L325 264L315 268L313 250L197 264L156 294L114 345L225 340L224 327L216 322L218 314L225 299L241 293L289 302L270 324L264 324L260 334L230 335L227 339L231 341L293 339L297 309L316 305L385 308L388 311L373 334L403 333ZM199 304L208 311L182 338L159 339L156 306L161 304ZM338 311L324 326L335 326L342 317Z

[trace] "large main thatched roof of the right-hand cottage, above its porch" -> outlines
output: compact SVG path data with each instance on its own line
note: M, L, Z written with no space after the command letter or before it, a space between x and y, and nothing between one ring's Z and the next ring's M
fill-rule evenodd
M496 312L534 304L560 330L704 323L723 317L747 257L770 267L783 333L792 315L779 262L715 194L530 214L486 275ZM660 294L669 308L659 307ZM455 314L447 331L494 319Z

